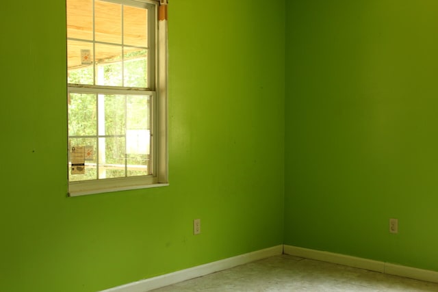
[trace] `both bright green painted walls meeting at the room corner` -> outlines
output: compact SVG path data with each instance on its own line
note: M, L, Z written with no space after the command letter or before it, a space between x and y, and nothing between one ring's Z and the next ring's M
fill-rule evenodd
M64 0L3 3L0 291L99 291L281 243L438 270L435 2L172 1L170 186L78 198Z

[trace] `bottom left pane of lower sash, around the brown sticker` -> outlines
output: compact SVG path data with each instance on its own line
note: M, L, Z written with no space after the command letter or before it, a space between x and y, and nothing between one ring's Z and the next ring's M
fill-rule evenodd
M89 181L97 179L96 170L96 138L70 138L68 139L68 145L70 150L73 147L85 147L85 170L83 174L72 174L71 170L71 157L70 151L68 151L68 181Z

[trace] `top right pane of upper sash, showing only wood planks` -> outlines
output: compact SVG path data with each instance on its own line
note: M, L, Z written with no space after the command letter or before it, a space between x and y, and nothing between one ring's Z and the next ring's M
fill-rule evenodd
M123 6L123 42L130 46L148 47L148 10Z

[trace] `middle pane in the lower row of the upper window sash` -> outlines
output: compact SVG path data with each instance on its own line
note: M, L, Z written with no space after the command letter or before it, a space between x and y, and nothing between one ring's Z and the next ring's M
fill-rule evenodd
M96 85L122 86L122 47L96 44Z

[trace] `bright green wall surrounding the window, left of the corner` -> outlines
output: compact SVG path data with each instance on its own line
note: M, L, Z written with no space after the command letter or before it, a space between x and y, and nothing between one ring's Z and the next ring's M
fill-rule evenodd
M78 198L65 3L4 3L0 291L99 291L282 243L284 2L274 21L252 3L169 6L170 187Z

